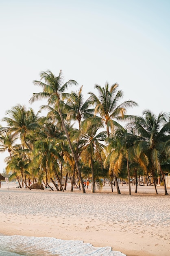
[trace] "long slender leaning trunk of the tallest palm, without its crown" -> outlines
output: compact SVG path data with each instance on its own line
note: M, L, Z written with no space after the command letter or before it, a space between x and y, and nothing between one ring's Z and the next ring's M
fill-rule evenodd
M83 193L85 193L85 188L84 188L83 180L82 180L82 177L81 177L81 171L80 171L80 168L78 166L78 161L77 161L76 155L74 153L74 150L73 150L73 147L72 147L72 143L70 141L70 136L68 134L68 130L67 130L67 128L65 126L65 123L64 123L64 119L63 119L63 116L62 116L62 113L61 113L61 110L60 110L60 107L59 107L59 101L57 102L57 107L58 107L59 115L60 115L61 122L62 122L62 125L63 125L63 129L64 129L65 135L66 135L66 137L68 139L68 144L70 146L70 150L72 151L72 155L73 155L73 158L74 158L74 161L75 161L75 164L76 164L76 168L77 168L77 171L78 171L78 176L80 178L80 182L81 182L81 186L82 186L82 189L83 189Z

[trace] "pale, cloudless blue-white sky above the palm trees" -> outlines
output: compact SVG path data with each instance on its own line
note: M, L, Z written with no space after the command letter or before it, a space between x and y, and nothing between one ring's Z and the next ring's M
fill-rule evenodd
M78 82L69 92L83 85L84 99L108 81L138 103L128 114L170 112L169 29L169 0L0 0L0 120L46 103L29 99L47 69Z

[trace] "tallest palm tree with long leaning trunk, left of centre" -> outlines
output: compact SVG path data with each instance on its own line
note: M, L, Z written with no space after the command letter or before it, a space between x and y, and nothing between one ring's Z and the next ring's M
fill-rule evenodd
M78 171L78 175L79 175L79 178L80 178L80 181L81 181L81 186L82 186L82 189L83 189L83 193L85 193L85 189L84 189L84 186L83 186L83 180L82 180L82 177L81 177L81 171L80 171L80 168L78 166L78 161L76 159L76 155L75 155L74 149L72 147L72 143L71 143L71 140L70 140L70 136L68 134L68 130L65 126L65 122L64 122L64 119L63 119L63 115L62 115L62 112L61 112L61 106L60 106L61 97L62 97L63 92L68 88L68 86L77 85L77 82L74 81L74 80L69 80L68 82L63 83L63 75L62 75L61 70L59 72L59 76L55 76L54 74L52 74L52 72L50 70L47 70L46 72L41 72L40 73L40 78L44 82L43 81L33 81L33 83L35 85L40 86L43 89L43 92L34 93L33 97L30 99L30 102L32 103L36 100L47 99L49 105L57 106L58 112L59 112L59 115L60 115L60 118L61 118L62 126L63 126L63 129L65 131L65 135L68 139L70 150L72 151L72 155L74 157L74 161L75 161L76 168L77 168L77 171Z

